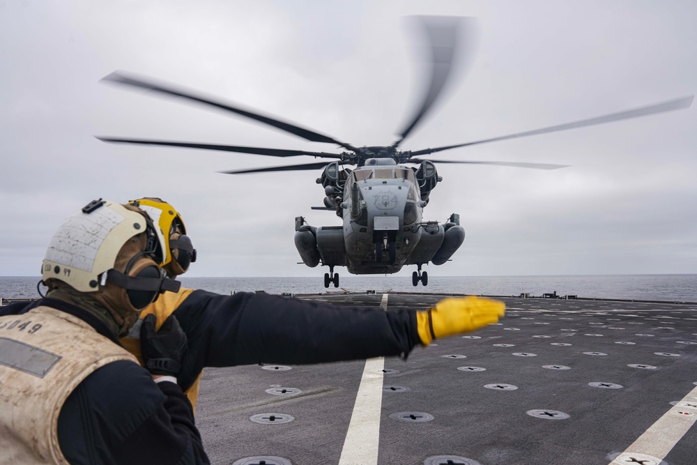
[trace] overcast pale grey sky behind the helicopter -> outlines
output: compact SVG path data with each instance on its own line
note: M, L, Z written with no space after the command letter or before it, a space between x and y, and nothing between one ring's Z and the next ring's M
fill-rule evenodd
M64 218L92 199L162 197L183 215L190 276L317 276L293 218L338 225L320 171L296 162L105 144L94 135L333 151L238 116L109 86L153 77L350 144L391 144L420 97L408 15L478 18L468 72L402 148L459 144L697 91L697 2L0 0L0 275L38 275ZM697 105L443 152L426 220L466 239L431 275L697 273ZM338 150L337 150L338 152ZM312 162L312 158L297 162ZM401 275L411 274L407 267ZM337 270L347 275L344 268Z

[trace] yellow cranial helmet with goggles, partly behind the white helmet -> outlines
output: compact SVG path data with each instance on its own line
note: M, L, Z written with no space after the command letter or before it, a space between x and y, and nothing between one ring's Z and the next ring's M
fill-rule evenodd
M160 225L160 229L164 233L165 243L162 268L167 271L167 275L176 277L186 273L189 265L196 261L196 249L194 249L189 236L186 236L186 228L181 215L173 206L156 197L144 197L129 203L146 211L153 222Z

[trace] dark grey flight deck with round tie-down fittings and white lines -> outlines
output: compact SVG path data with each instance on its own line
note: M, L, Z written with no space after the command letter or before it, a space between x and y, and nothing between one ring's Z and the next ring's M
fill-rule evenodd
M295 297L389 312L445 295ZM499 323L406 360L206 368L211 462L697 464L697 303L497 298Z

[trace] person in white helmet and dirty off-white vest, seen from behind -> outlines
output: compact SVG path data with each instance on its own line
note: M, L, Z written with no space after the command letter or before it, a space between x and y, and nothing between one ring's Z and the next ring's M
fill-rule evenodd
M63 222L42 265L47 296L0 316L1 464L208 463L176 383L187 346L176 318L142 324L148 369L118 342L178 290L164 247L128 204L100 199Z

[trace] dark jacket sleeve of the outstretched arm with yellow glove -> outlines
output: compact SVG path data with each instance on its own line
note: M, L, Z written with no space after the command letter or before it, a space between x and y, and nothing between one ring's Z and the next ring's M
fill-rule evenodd
M189 340L179 382L204 367L406 358L420 344L416 314L273 296L193 291L174 311Z

